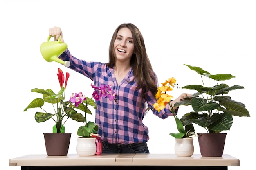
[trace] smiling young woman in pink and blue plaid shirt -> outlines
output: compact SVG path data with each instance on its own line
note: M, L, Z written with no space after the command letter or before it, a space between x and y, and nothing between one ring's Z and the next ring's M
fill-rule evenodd
M64 42L59 27L50 28L49 35L55 40L61 35ZM103 142L102 153L149 153L148 128L142 122L146 109L150 108L162 119L172 113L168 105L159 113L153 109L157 102L157 76L139 29L131 23L117 27L110 41L109 63L77 59L68 49L59 58L70 61L69 68L90 78L96 87L111 85L117 94L116 102L108 98L96 102L95 123L99 125L98 134ZM181 94L171 101L172 105L187 96L190 94ZM177 107L174 109L177 111Z

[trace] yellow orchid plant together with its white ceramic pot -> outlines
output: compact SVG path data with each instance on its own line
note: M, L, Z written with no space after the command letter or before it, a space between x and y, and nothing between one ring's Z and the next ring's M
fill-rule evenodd
M187 124L184 128L181 120L177 117L172 104L170 103L171 96L170 94L166 93L173 90L172 87L176 83L175 78L169 78L162 86L158 87L157 94L155 97L157 98L157 103L153 105L153 107L158 110L158 112L166 107L168 104L172 110L173 117L175 119L177 130L179 133L170 133L172 137L175 138L175 154L177 156L191 156L194 153L194 145L193 145L193 136L195 136L195 129L193 124Z

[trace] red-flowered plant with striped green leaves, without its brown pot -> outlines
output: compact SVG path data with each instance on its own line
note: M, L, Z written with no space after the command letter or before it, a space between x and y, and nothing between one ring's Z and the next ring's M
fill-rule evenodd
M70 101L64 101L65 100L65 89L67 87L67 81L69 78L69 73L66 73L66 79L64 77L64 74L60 68L58 68L58 80L60 83L60 91L56 94L51 89L32 89L31 92L36 92L43 94L43 98L36 98L32 100L32 102L24 109L24 111L27 111L27 109L31 108L40 108L44 112L37 111L35 113L35 120L36 122L45 122L46 120L52 119L54 120L56 124L56 130L57 133L61 133L61 129L63 128L65 122L71 118L73 120L76 120L78 122L84 122L85 118L82 116L81 113L77 113L76 110L74 110L75 106ZM65 86L63 87L65 79ZM53 106L53 113L50 113L43 109L43 105L45 103L48 103L49 105Z

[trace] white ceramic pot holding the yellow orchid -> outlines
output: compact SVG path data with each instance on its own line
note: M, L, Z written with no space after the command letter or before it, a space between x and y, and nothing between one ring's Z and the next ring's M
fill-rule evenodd
M193 138L175 138L175 154L178 157L190 157L194 153Z

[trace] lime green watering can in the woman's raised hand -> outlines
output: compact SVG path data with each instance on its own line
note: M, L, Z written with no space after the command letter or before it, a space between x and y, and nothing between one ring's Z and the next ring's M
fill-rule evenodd
M43 58L48 62L55 61L69 67L69 61L62 61L58 58L65 50L67 50L67 44L61 42L61 36L58 38L58 41L50 41L50 39L51 36L48 37L47 42L42 43L40 46Z

